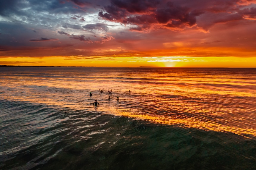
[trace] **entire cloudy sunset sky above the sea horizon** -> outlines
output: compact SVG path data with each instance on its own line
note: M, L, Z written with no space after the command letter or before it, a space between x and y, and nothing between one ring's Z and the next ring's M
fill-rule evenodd
M1 0L0 65L256 67L256 0Z

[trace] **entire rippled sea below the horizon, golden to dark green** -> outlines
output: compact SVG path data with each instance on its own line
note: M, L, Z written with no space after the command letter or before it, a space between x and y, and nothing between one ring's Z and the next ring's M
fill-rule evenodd
M256 68L7 67L0 95L2 170L256 169Z

